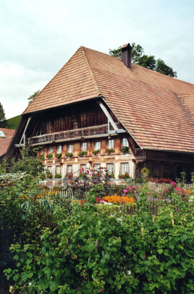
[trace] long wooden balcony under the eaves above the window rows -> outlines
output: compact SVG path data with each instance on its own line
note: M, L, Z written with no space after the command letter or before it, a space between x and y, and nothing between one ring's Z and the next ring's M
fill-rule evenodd
M58 133L51 133L45 135L39 135L27 138L27 145L35 146L35 145L43 145L54 142L64 142L64 141L72 141L72 140L80 140L81 138L98 138L103 136L108 136L111 134L122 133L125 130L122 129L121 124L116 123L119 128L118 131L114 131L112 128L109 130L107 124L97 125L87 128L68 130Z

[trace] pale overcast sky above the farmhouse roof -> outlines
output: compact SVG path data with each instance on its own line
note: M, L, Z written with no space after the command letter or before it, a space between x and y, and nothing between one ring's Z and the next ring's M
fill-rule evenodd
M126 43L194 84L194 0L0 0L0 102L21 114L81 46Z

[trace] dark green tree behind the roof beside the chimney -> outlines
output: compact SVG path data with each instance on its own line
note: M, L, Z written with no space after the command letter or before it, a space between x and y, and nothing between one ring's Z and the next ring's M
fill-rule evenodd
M121 58L121 46L118 49L109 49L109 54ZM134 42L131 44L131 61L163 75L177 78L177 72L165 64L162 59L155 59L154 55L145 55L143 48Z

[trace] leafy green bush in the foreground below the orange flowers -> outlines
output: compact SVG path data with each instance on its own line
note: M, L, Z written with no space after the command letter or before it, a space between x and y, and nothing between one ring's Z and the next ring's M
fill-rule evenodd
M16 269L4 273L19 293L194 293L190 204L179 212L171 204L161 207L153 219L143 194L142 209L132 216L107 215L93 197L63 201L66 208L58 201L53 210L56 227L39 231L38 246L10 248Z

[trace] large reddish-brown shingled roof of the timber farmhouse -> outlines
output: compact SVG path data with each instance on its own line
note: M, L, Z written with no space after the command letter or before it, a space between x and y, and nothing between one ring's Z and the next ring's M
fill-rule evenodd
M194 152L193 84L83 46L23 114L98 96L141 148Z

